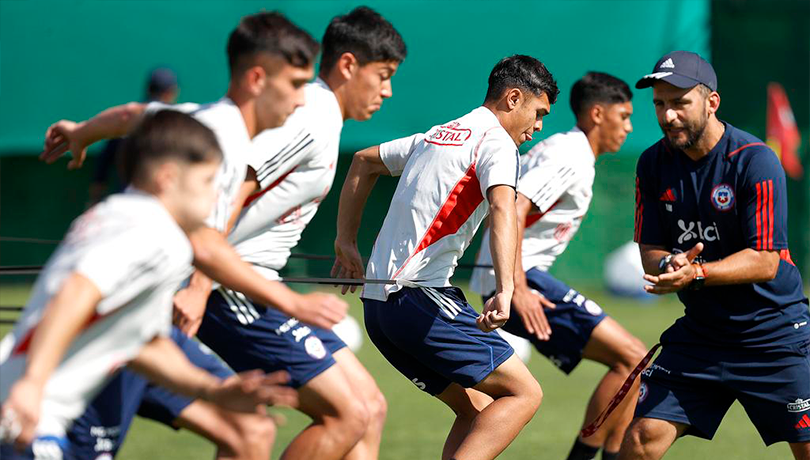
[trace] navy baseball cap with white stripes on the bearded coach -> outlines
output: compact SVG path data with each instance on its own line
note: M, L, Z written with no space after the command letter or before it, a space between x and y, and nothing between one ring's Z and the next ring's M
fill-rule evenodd
M656 81L663 80L678 88L691 88L704 84L717 91L717 74L714 68L697 53L673 51L665 54L653 67L652 73L644 75L636 82L636 88L648 88Z

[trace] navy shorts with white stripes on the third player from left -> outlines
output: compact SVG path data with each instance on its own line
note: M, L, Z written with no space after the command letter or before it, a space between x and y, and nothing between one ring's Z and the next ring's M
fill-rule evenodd
M331 330L302 324L225 288L208 298L197 337L237 372L289 372L293 388L332 367L332 354L346 346Z

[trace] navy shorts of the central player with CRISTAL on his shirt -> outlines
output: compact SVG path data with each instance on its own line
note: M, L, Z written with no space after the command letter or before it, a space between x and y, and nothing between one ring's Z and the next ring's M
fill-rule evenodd
M431 395L452 382L475 386L514 353L496 332L478 329L478 312L458 288L403 288L385 302L363 299L363 304L371 341Z

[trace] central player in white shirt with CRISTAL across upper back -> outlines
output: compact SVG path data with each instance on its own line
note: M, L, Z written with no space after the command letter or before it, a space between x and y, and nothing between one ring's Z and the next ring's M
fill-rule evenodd
M361 298L380 352L456 413L443 459L495 458L540 405L540 385L493 331L509 319L513 292L517 147L541 129L557 93L540 61L504 58L482 107L356 153L341 191L333 275L360 278L363 206L379 175L402 176L366 271L395 284L366 284ZM496 292L479 316L450 278L488 212Z

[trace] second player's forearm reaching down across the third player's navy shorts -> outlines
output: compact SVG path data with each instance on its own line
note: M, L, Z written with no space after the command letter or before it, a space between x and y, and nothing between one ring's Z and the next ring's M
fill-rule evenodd
M348 305L334 295L320 292L301 295L282 283L266 280L213 228L196 230L189 240L194 248L194 266L227 288L325 329L346 316Z

